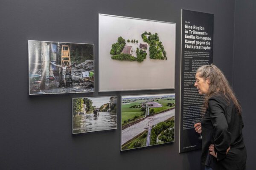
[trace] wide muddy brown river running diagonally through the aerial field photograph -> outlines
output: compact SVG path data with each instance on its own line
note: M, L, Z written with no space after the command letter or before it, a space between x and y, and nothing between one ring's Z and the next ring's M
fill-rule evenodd
M156 125L159 122L163 122L166 119L171 118L175 115L175 109L172 109L170 111L166 111L164 113L159 113L154 116L149 116L145 118L143 121L134 124L130 127L125 128L122 130L122 144L127 142L128 140L134 138L138 134L142 133L144 130L148 129L148 126L152 127L153 125Z

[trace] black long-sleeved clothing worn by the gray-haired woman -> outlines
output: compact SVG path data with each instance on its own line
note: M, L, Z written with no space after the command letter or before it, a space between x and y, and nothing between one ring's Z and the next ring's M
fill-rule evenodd
M242 135L244 124L233 101L221 93L212 96L201 125L202 164L213 170L244 170L247 157ZM209 155L210 144L214 144L217 159Z

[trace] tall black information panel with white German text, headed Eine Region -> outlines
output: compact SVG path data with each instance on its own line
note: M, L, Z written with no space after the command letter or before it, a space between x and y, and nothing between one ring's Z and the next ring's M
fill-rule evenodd
M194 123L201 120L204 96L194 87L195 71L212 63L213 22L213 14L182 10L180 153L201 148Z

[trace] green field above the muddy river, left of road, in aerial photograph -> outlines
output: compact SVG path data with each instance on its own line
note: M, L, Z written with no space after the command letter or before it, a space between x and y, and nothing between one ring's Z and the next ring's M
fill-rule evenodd
M143 111L141 111L140 108L130 108L133 105L141 105L140 102L141 101L131 102L129 104L122 104L122 108L121 108L122 125L132 122L131 120L134 121L136 119L140 119L145 116L144 114L141 115L143 113ZM134 116L138 116L138 117L136 119L134 119ZM128 119L130 119L130 121L128 121ZM124 121L127 121L127 122L124 123Z

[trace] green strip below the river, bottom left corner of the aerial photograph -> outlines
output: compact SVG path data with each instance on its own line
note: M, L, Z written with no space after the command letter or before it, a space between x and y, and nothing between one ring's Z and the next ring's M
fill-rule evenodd
M122 150L133 149L146 146L148 130L145 130L140 136L133 139L131 142L122 145Z

